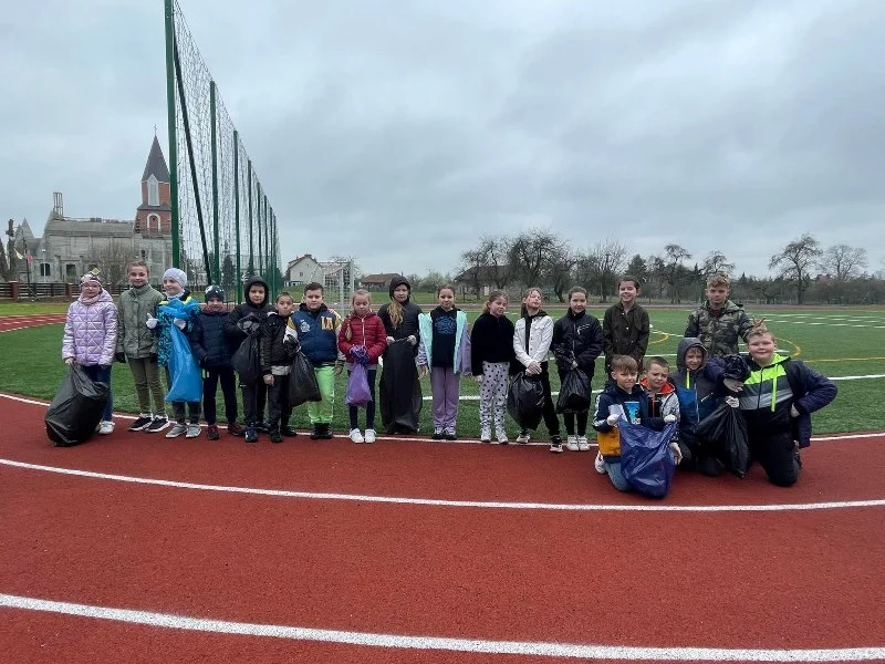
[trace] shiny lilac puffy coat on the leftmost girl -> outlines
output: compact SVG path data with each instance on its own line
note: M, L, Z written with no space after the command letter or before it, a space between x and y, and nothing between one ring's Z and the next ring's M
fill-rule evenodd
M62 360L72 357L84 366L111 365L116 347L117 310L108 292L102 289L95 298L72 302L64 323Z

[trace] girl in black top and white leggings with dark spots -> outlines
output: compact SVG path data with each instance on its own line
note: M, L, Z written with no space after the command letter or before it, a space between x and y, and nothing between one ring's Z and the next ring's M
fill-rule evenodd
M492 291L482 314L473 323L470 333L470 364L480 383L479 423L480 439L491 442L491 425L498 442L507 445L504 413L507 412L507 376L513 353L513 323L504 315L507 293Z

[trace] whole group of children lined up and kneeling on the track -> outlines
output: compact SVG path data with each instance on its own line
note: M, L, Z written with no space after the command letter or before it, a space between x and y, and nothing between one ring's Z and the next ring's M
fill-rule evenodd
M543 419L550 434L550 452L587 452L590 408L565 412L565 440L550 387L548 357L553 353L560 381L580 370L586 393L594 377L596 360L604 354L606 384L595 402L592 426L597 433L595 468L607 474L612 484L627 490L621 471L618 423L623 419L662 429L677 423L670 443L671 454L683 468L717 475L720 466L715 449L697 439L697 425L722 402L739 407L746 415L752 457L766 468L775 484L795 481L801 466L794 442L810 440L810 413L835 396L835 387L802 362L778 355L773 335L764 325L750 324L743 311L728 300L728 281L716 276L708 282L708 301L689 318L686 338L679 344L676 371L660 356L645 360L650 325L648 314L638 304L639 283L624 277L620 299L605 312L603 323L587 313L583 288L569 291L569 310L555 322L542 309L543 294L530 288L522 298L516 323L507 315L508 297L492 291L482 313L469 329L467 315L455 307L455 289L438 289L439 304L424 313L410 301L410 284L402 277L391 282L391 301L372 311L368 292L358 290L351 311L342 319L323 301L323 287L311 283L295 305L289 293L281 292L268 303L268 284L259 278L246 283L246 301L231 311L218 286L206 290L206 307L200 308L187 289L187 276L170 268L163 276L163 293L149 283L147 266L128 266L129 289L116 308L102 288L101 276L88 272L81 279L82 294L72 303L64 330L62 357L82 364L91 377L110 384L111 363L125 362L132 371L140 413L129 430L156 433L167 437L200 435L200 412L207 422L207 437L218 439L216 394L220 384L228 421L228 433L258 440L261 430L273 443L296 435L290 424L289 401L293 357L303 353L312 365L320 401L308 403L311 438L332 437L335 377L346 364L348 376L363 365L371 401L365 407L365 427L360 428L358 408L351 405L350 438L373 443L375 429L375 381L377 367L394 344L415 359L418 377L429 375L433 394L435 439L456 439L460 378L471 375L480 384L480 439L489 443L492 434L508 444L504 426L509 378L520 372L537 377L543 391ZM177 328L177 331L174 330ZM167 419L159 367L167 384L175 378L177 364L170 361L171 335L189 340L194 359L202 370L202 401L173 401L174 423ZM689 336L694 332L698 336ZM706 336L706 339L705 339ZM746 362L750 377L743 382L723 377L719 360L737 353L738 336L748 342ZM243 403L243 425L238 424L235 353L254 346L258 371L239 376ZM711 356L711 349L717 356ZM409 362L410 363L410 362ZM639 370L645 372L642 381ZM382 386L385 373L382 373ZM405 385L405 386L404 386ZM419 391L418 381L398 390ZM406 400L410 397L405 395ZM152 405L153 403L153 405ZM384 405L384 404L382 404ZM268 415L264 416L267 407ZM113 404L98 425L98 433L113 432ZM416 426L384 423L387 433L412 433ZM531 432L522 429L518 443L528 443Z

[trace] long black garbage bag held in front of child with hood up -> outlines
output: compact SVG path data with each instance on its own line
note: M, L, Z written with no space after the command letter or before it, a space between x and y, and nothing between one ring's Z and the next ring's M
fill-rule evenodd
M417 434L424 401L415 353L408 341L395 341L384 351L378 392L384 430L388 434Z

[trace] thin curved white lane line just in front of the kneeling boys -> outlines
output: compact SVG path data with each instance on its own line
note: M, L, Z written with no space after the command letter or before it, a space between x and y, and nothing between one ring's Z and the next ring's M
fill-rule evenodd
M885 499L876 500L840 500L834 502L795 502L779 505L593 505L593 504L560 504L560 502L504 502L499 500L445 500L437 498L409 498L397 496L368 496L361 494L329 494L315 491L291 491L285 489L259 489L254 487L229 487L221 485L205 485L190 481L175 481L170 479L153 479L149 477L133 477L129 475L113 475L110 473L93 473L92 470L77 470L75 468L59 468L39 464L25 464L12 459L0 459L0 465L25 470L42 473L56 473L91 479L106 479L128 484L170 487L175 489L191 489L197 491L218 491L222 494L247 494L252 496L272 496L277 498L301 498L309 500L346 500L351 502L382 502L393 505L421 505L427 507L458 507L480 509L516 509L516 510L548 510L548 511L669 511L669 512L757 512L757 511L809 511L816 509L852 509L865 507L885 507Z

